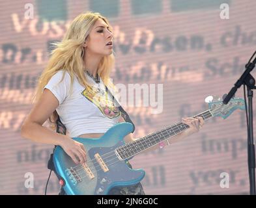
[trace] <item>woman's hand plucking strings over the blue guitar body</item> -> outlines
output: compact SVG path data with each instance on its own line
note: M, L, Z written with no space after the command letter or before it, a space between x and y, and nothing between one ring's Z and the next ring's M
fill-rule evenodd
M63 144L61 144L61 147L76 164L83 164L87 161L86 150L82 143L68 137L63 140Z

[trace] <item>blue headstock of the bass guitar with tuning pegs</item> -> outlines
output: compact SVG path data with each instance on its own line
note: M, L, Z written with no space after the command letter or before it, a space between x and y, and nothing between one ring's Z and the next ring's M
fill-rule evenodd
M223 99L226 94L223 95ZM229 117L229 115L236 109L245 109L244 99L231 98L227 105L223 104L223 99L216 96L208 96L205 98L205 102L208 103L208 108L213 116L221 116L223 119Z

